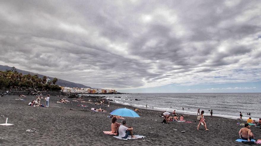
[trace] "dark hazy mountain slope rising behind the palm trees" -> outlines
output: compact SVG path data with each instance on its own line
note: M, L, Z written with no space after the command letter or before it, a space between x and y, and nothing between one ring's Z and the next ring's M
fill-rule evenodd
M0 70L2 70L2 71L11 70L11 68L12 67L7 66L7 65L0 65ZM17 68L16 68L16 70L17 70L17 72L22 73L23 75L30 73L31 75L37 74L39 76L39 78L43 78L43 76L44 76L44 75L41 75L41 74L38 74L38 73L32 73L32 72L20 70L20 69L17 69ZM49 76L47 76L47 78L49 78L50 80L53 79L53 77L49 77ZM65 81L65 80L62 80L62 79L59 79L59 78L58 78L58 81L56 82L56 84L59 85L59 86L63 86L63 87L91 88L91 87L88 87L88 86L85 86L85 85L82 85L82 84L77 84L77 83Z

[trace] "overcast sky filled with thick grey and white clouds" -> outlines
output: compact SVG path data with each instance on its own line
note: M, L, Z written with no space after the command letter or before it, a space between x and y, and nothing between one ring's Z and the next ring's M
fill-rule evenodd
M261 91L260 20L260 0L1 0L0 64L126 92Z

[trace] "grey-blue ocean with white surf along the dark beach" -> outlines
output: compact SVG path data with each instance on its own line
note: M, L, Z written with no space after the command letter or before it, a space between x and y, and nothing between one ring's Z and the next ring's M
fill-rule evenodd
M192 115L197 114L198 108L205 111L204 115L210 115L209 110L212 109L213 116L230 119L238 119L241 111L243 119L261 118L261 93L131 93L95 96L106 96L115 103L143 109L146 109L147 104L147 109L153 106L154 110L173 112L175 109L177 113ZM251 116L247 115L249 112Z

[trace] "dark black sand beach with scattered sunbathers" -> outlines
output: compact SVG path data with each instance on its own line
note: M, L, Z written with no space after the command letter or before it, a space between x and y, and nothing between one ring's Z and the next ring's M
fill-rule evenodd
M195 115L185 115L184 119L192 123L170 122L162 124L163 118L159 117L161 111L140 109L138 113L141 118L126 117L127 125L134 128L135 134L146 136L150 141L143 142L142 139L119 140L106 135L103 131L110 131L112 119L108 118L110 111L118 108L130 108L105 101L104 106L94 105L96 98L84 98L81 101L93 100L91 103L77 103L67 99L71 103L57 104L56 101L61 97L51 96L50 106L32 107L28 103L35 96L23 97L24 101L15 100L18 96L0 97L0 123L15 124L11 126L0 125L0 144L1 146L29 146L29 145L245 145L235 142L238 139L238 131L243 126L236 123L241 122L235 119L221 117L208 117L207 128L203 126L196 130L198 121ZM80 100L78 100L80 101ZM41 103L45 103L42 99ZM84 104L88 107L83 108L77 104ZM94 112L91 108L102 108L108 112ZM194 122L196 121L196 122ZM117 122L122 122L118 119ZM26 132L27 129L36 129L36 132ZM260 139L261 129L251 127L256 139ZM181 133L181 131L186 131Z

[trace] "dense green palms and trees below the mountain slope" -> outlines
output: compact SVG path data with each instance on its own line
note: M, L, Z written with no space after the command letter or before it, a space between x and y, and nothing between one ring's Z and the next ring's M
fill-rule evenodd
M61 87L56 85L58 81L54 78L52 81L47 82L47 77L39 78L38 75L23 75L18 73L15 67L11 70L0 71L0 89L5 90L6 88L19 88L20 90L48 90L48 91L60 91Z

